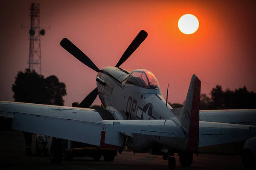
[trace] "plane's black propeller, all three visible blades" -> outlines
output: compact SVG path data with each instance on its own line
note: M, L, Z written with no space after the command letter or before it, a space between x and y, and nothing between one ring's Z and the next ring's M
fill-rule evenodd
M125 62L126 59L128 59L131 54L140 46L140 44L145 40L145 38L148 36L148 33L144 30L141 30L139 34L134 38L134 40L131 42L131 44L128 46L128 48L125 50L122 57L119 59L119 62L117 62L116 67L119 67L122 65L122 63ZM61 47L63 47L65 50L67 50L70 54L72 54L74 57L76 57L79 61L90 67L91 69L95 70L96 72L99 72L99 68L90 60L87 55L85 55L79 48L76 47L70 40L67 38L63 38L61 40ZM79 108L89 108L90 105L93 104L94 100L96 99L98 95L98 89L95 88L93 91L88 94L83 101L78 105Z

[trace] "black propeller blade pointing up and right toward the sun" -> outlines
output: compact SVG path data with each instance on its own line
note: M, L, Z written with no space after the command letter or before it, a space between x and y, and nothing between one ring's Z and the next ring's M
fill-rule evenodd
M119 59L119 62L116 64L116 67L119 67L123 62L125 62L125 60L131 56L131 54L140 46L140 44L146 39L147 36L148 33L144 30L141 30L125 50L124 54Z

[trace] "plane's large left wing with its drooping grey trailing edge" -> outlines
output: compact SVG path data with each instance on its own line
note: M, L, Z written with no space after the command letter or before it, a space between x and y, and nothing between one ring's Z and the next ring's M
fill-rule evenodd
M106 128L113 119L106 110L0 101L0 116L11 117L12 129L53 136L96 146L121 149L122 133ZM112 140L116 139L116 140Z

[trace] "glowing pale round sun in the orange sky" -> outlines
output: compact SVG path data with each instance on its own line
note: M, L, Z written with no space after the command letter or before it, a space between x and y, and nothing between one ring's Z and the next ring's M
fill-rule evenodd
M198 29L198 26L198 19L192 14L185 14L178 21L178 27L184 34L193 34Z

